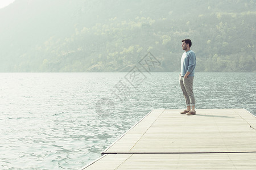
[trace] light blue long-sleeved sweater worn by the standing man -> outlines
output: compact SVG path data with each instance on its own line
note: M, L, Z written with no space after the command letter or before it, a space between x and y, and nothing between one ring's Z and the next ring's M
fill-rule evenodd
M189 50L184 52L181 57L181 76L184 76L187 71L190 73L188 76L195 76L195 67L196 67L196 54Z

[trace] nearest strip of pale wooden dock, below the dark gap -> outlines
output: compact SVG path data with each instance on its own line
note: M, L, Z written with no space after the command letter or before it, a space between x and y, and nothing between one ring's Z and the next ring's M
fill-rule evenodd
M116 154L84 168L91 169L255 169L256 153Z

